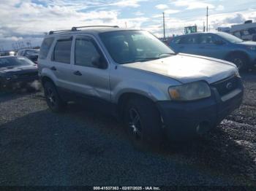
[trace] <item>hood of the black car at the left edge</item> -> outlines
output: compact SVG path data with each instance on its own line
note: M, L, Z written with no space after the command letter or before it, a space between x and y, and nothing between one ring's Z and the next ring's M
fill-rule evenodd
M0 68L0 72L4 74L23 74L26 72L37 71L36 65L29 66L8 66L4 68Z

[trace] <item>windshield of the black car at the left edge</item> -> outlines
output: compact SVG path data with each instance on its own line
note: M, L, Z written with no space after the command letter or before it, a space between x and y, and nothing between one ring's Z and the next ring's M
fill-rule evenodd
M34 63L29 59L23 57L0 58L0 68L8 66L26 66L32 64L34 65Z

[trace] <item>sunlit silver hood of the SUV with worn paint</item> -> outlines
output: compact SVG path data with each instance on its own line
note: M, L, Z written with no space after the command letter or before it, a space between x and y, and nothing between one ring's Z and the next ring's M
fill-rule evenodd
M121 65L161 74L181 83L205 80L209 84L230 77L237 72L233 63L197 55L178 54L154 61Z

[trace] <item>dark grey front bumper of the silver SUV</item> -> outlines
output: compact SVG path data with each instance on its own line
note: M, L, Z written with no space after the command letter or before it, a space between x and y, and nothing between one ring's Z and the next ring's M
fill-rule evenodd
M157 107L170 139L206 133L216 127L228 114L241 106L244 87L241 79L238 87L226 95L219 95L211 87L211 97L198 101L158 101Z

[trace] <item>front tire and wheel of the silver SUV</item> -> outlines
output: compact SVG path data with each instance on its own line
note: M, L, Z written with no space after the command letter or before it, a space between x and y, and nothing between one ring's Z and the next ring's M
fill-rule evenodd
M163 130L159 112L146 98L132 98L124 109L127 135L137 149L159 148Z

